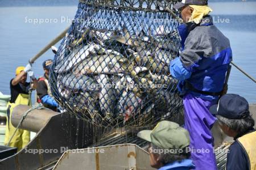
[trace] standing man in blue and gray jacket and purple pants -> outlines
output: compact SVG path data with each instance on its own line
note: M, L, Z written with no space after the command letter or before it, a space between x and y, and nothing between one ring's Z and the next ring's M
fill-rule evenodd
M217 169L210 129L216 117L209 107L216 104L232 60L229 40L213 25L207 1L183 0L174 8L185 24L178 28L183 50L170 65L183 95L185 129L189 131L191 158L196 169ZM196 151L196 152L195 152Z

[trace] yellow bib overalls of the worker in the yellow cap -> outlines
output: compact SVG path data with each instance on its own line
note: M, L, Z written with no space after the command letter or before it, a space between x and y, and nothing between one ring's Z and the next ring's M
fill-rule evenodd
M13 113L13 108L15 108L19 104L31 105L29 101L30 97L27 94L19 94L15 103L7 104L7 118L6 118L6 131L5 131L5 145L8 144L10 138L13 136L15 127L11 124L11 115ZM10 147L17 147L18 151L25 147L28 142L30 142L30 131L18 129L11 139L9 144Z

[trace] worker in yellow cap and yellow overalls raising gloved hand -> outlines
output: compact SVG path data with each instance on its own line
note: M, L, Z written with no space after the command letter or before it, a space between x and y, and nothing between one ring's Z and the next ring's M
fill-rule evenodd
M5 145L10 147L17 147L18 151L30 142L30 131L18 129L15 132L15 127L11 124L11 115L13 108L19 104L31 105L29 96L30 83L26 82L27 73L31 71L32 67L28 64L26 67L20 66L16 68L16 76L10 81L11 100L7 104L7 122L5 133ZM32 73L32 71L30 72ZM32 89L36 89L37 80L34 74L31 74L33 83Z

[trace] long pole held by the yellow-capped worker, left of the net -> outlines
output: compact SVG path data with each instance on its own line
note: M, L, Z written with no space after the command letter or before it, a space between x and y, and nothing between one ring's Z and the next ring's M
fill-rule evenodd
M34 63L36 61L36 59L38 59L45 52L47 52L47 50L49 48L51 48L52 45L55 45L57 42L59 42L61 39L63 39L65 34L68 32L68 29L69 29L69 27L66 28L63 32L61 32L60 35L58 35L55 39L53 39L51 42L49 42L49 44L46 45L38 54L36 54L34 57L32 57L29 62Z

